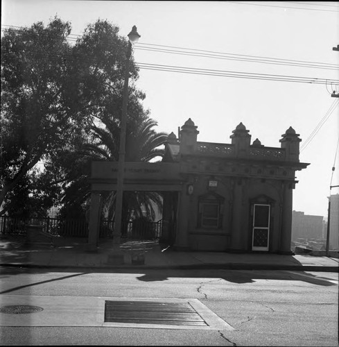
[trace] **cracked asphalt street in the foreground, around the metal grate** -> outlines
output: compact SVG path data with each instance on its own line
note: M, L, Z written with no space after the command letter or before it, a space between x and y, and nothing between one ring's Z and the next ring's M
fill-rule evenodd
M0 314L2 346L338 346L338 273L7 267L0 299L1 307L44 309ZM209 325L113 326L104 322L105 299L191 301Z

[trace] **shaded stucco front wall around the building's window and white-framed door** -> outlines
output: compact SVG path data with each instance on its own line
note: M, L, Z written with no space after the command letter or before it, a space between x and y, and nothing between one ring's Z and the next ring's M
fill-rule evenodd
M281 219L281 182L256 178L216 177L218 187L209 188L211 176L199 176L194 191L181 194L178 213L177 246L201 251L252 251L252 204L268 203L270 208L269 251L279 251L279 221ZM220 228L201 228L199 198L218 194L222 203Z

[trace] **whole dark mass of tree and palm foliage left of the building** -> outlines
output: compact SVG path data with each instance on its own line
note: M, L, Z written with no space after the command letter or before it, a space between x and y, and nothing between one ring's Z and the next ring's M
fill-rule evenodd
M102 20L75 43L70 33L55 17L2 37L0 214L61 205L74 217L89 196L92 160L118 160L128 41ZM144 110L133 58L129 72L126 160L149 161L166 136Z

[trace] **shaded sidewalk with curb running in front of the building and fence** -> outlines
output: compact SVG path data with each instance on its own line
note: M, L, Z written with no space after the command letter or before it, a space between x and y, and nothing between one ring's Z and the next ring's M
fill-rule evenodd
M132 262L132 246L141 264ZM82 269L242 269L338 272L335 257L277 255L269 253L184 252L162 249L156 242L127 242L118 252L123 264L112 264L112 240L101 242L96 252L87 251L87 239L58 238L49 244L25 244L24 239L0 239L0 266ZM144 259L143 259L144 254Z

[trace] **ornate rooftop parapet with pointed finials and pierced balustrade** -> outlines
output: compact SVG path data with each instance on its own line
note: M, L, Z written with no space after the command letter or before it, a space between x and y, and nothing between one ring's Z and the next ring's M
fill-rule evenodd
M294 171L304 169L308 164L299 163L299 134L290 127L282 135L281 147L268 147L255 139L251 144L250 131L243 123L238 124L232 131L231 144L214 142L198 142L199 131L191 119L188 119L182 130L180 138L177 139L173 133L168 136L166 144L166 161L181 162L182 169L199 171L228 172L229 166L233 165L232 173L240 173L238 165L247 167L245 174L261 176L268 171L270 175L284 176L294 179ZM182 156L183 155L183 156ZM252 169L250 169L252 167ZM256 167L262 167L260 170ZM270 167L270 169L267 169ZM274 169L275 167L275 169ZM284 169L282 169L284 167ZM184 170L184 171L185 171ZM267 176L267 175L266 175Z

